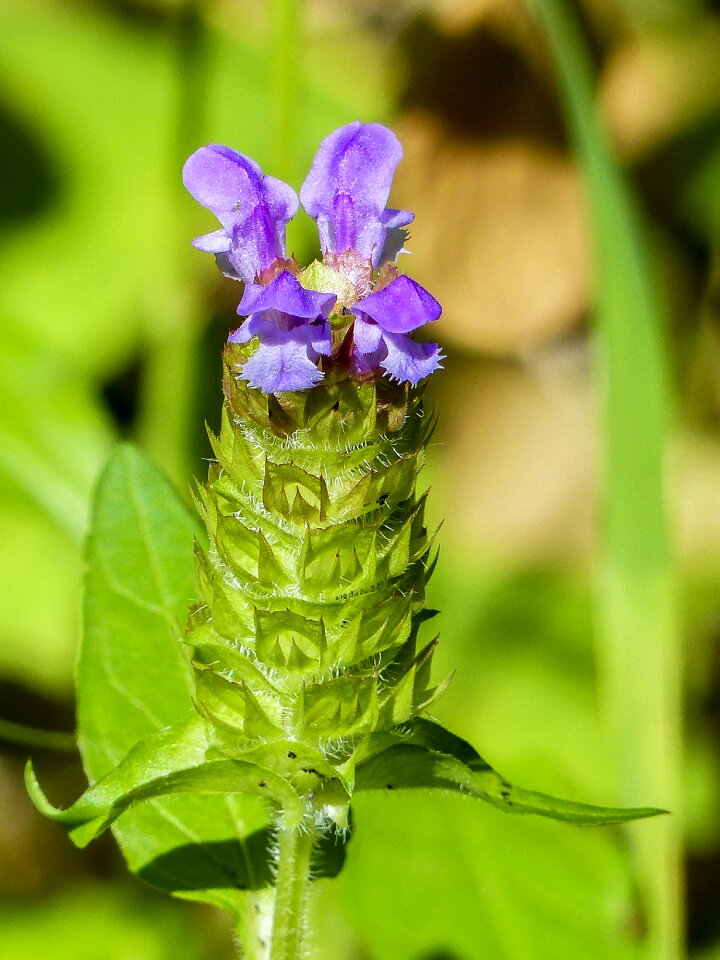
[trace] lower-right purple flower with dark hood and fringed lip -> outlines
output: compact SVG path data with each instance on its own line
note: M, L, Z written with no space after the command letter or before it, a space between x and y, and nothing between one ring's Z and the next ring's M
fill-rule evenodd
M442 307L410 277L396 277L353 307L352 366L356 373L382 368L391 379L413 386L437 370L442 360L436 343L417 343L407 334L437 320Z

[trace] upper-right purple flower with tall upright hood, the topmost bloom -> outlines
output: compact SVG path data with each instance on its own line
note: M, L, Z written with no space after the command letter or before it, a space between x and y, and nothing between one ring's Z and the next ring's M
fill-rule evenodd
M300 189L323 254L353 250L373 267L397 257L413 220L409 210L385 208L401 157L399 140L379 123L356 120L323 140Z

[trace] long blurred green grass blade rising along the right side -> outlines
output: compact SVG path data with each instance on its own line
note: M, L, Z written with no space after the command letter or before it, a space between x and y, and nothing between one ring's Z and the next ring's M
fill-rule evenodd
M598 655L621 799L677 814L680 650L664 500L667 371L648 241L597 123L584 38L563 0L530 0L555 60L588 191L597 278L603 475ZM682 953L679 817L633 835L648 953Z

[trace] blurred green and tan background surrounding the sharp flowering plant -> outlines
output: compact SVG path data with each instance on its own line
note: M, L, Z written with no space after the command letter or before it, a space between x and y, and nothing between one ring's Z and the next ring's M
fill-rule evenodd
M318 955L720 958L720 5L532 6L539 23L520 0L0 3L0 960L232 957L223 917L40 819L11 724L72 730L113 442L181 492L209 456L238 288L190 248L214 227L184 158L227 143L298 188L354 119L403 142L402 267L445 308L437 716L515 782L675 813L581 830L363 798L346 872L318 884ZM300 259L312 227L291 227ZM79 759L47 747L69 802Z

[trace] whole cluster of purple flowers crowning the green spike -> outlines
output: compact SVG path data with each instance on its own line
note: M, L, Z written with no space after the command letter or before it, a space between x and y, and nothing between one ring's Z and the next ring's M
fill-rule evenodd
M413 219L386 207L401 157L397 137L378 123L349 123L323 140L300 191L317 221L323 263L299 279L285 252L294 190L228 147L202 147L185 164L185 186L221 223L194 246L246 284L238 313L247 319L229 340L257 340L239 373L252 387L310 389L323 379L323 357L346 375L384 373L412 385L440 366L438 345L409 335L437 320L440 304L393 265Z

